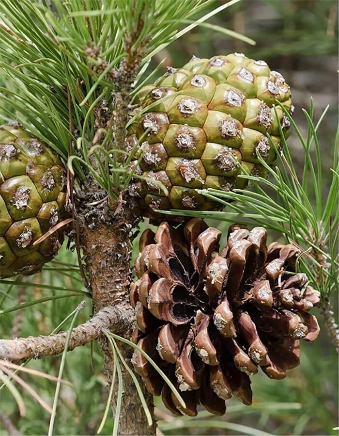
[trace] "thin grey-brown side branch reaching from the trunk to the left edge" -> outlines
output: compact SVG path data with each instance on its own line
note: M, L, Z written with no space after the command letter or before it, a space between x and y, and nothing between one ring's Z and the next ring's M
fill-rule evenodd
M91 320L73 329L68 351L85 345L102 335L102 329L123 333L134 322L132 311L118 307L104 307ZM40 359L47 355L62 353L67 331L54 335L29 336L28 338L14 338L0 340L0 357L8 360L25 360L30 357Z

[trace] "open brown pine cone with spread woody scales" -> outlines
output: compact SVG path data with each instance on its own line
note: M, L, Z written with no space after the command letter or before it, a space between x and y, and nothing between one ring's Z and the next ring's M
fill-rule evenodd
M234 225L219 254L220 236L193 218L178 228L163 222L140 239L132 340L181 391L186 408L139 351L132 362L148 390L178 415L196 415L199 403L222 415L231 395L251 404L250 376L260 368L284 378L299 365L299 340L319 334L308 311L320 293L295 274L293 245L267 247L264 228Z

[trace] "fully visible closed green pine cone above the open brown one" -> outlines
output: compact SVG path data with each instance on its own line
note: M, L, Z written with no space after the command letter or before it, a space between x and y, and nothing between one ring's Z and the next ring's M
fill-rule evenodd
M257 152L271 163L276 152L267 134L277 149L281 144L275 109L285 138L289 134L290 121L276 100L293 112L282 75L242 53L193 57L183 68L168 68L155 84L144 86L133 103L139 110L153 107L129 128L126 150L141 142L135 154L139 164L132 161L131 168L148 180L136 179L129 191L139 198L145 215L161 219L155 210L220 208L196 189L244 188L246 179L237 177L243 170L264 176Z

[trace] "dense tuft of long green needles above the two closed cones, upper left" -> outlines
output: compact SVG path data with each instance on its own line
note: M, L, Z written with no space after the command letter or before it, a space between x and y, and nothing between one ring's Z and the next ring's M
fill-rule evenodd
M18 118L65 161L71 156L69 167L79 181L90 173L116 197L134 170L130 158L120 163L128 154L114 144L98 112L112 106L119 65L128 57L139 62L142 53L138 88L157 52L238 1L205 16L201 12L213 0L55 0L52 8L45 0L1 1L1 112ZM97 143L97 137L103 140Z

